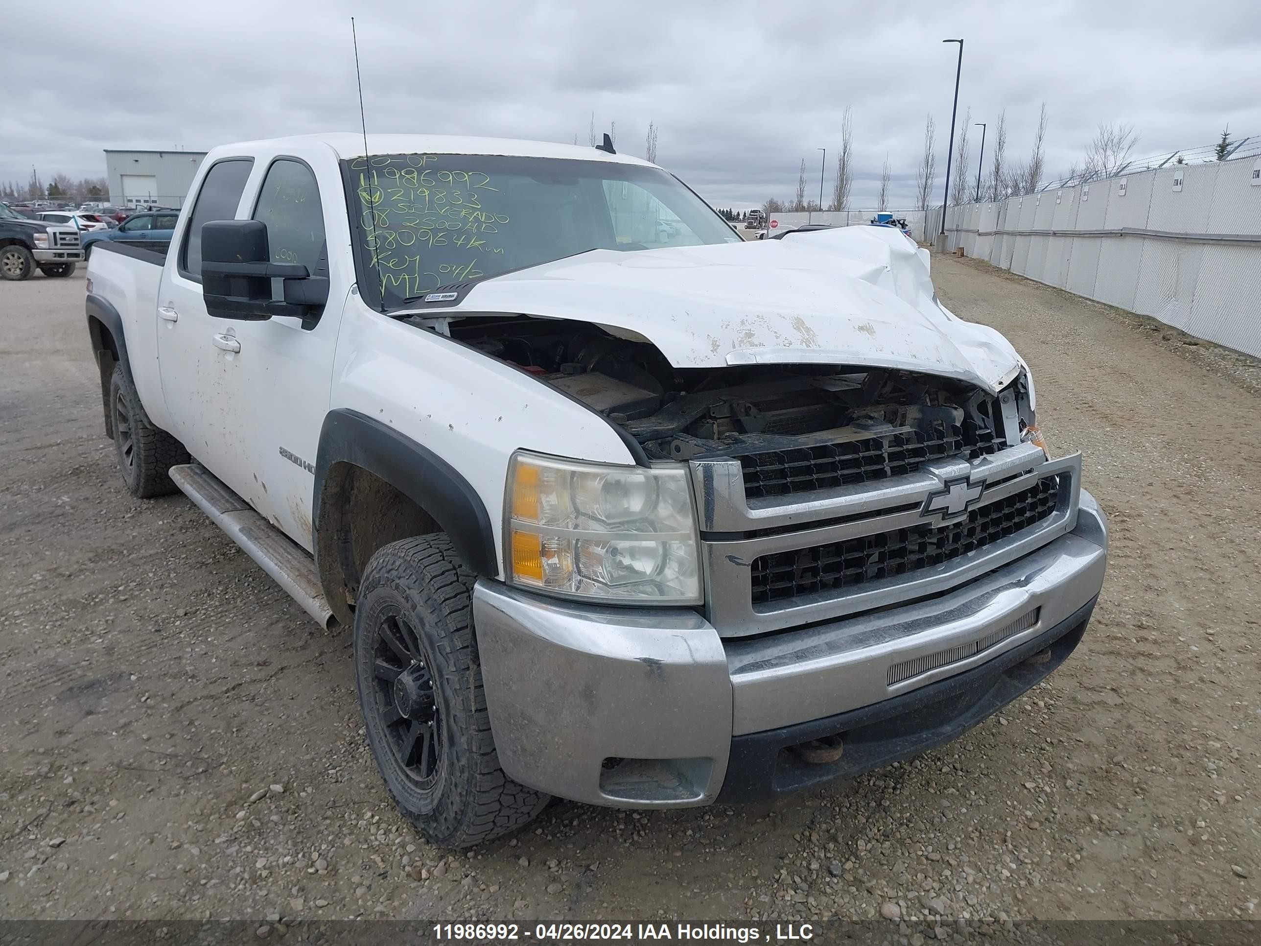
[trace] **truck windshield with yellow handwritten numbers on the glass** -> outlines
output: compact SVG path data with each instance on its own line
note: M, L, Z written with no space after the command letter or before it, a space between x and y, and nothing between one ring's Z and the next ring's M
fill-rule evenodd
M359 271L371 285L363 289L387 309L588 250L740 241L658 168L462 154L373 155L343 166Z

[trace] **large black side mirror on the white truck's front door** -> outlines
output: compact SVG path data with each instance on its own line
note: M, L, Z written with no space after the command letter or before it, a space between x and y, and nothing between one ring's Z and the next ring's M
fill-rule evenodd
M272 295L274 279L285 280L284 301ZM272 262L262 221L211 221L202 225L202 296L206 312L219 319L294 315L306 322L328 301L328 277L311 277L298 264Z

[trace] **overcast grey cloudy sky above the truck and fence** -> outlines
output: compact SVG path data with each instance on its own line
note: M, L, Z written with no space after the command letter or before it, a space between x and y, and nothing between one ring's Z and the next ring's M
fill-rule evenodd
M105 148L357 130L352 13L369 131L585 144L594 111L599 130L617 122L619 150L643 154L653 121L658 163L716 206L789 198L802 158L817 196L816 149L831 164L846 105L854 206L870 206L885 155L892 203L912 206L928 112L939 193L947 37L966 39L960 121L1006 110L1009 159L1026 156L1047 103L1048 177L1101 121L1132 122L1135 155L1209 144L1227 124L1261 135L1257 0L62 0L3 18L0 182L33 164L45 182L103 177Z

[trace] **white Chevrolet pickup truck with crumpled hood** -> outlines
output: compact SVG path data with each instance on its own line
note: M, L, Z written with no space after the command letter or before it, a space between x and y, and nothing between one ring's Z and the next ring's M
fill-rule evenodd
M1059 666L1103 581L1081 457L926 251L745 243L612 148L226 145L169 251L100 243L87 293L127 488L353 628L440 845L923 752Z

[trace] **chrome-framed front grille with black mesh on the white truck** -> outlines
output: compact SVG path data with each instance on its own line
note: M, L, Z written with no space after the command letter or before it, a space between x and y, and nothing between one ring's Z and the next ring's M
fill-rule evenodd
M736 459L696 459L691 467L705 616L723 637L899 605L1001 568L1074 527L1082 470L1081 454L1048 460L1021 443L972 460L928 460L880 482L747 501ZM966 518L951 526L924 518L926 502L960 479L985 486ZM1044 483L1055 486L1048 492ZM1029 491L1037 499L1031 512ZM912 549L913 539L922 547ZM859 559L846 561L854 540L861 541ZM777 581L792 588L773 589Z

